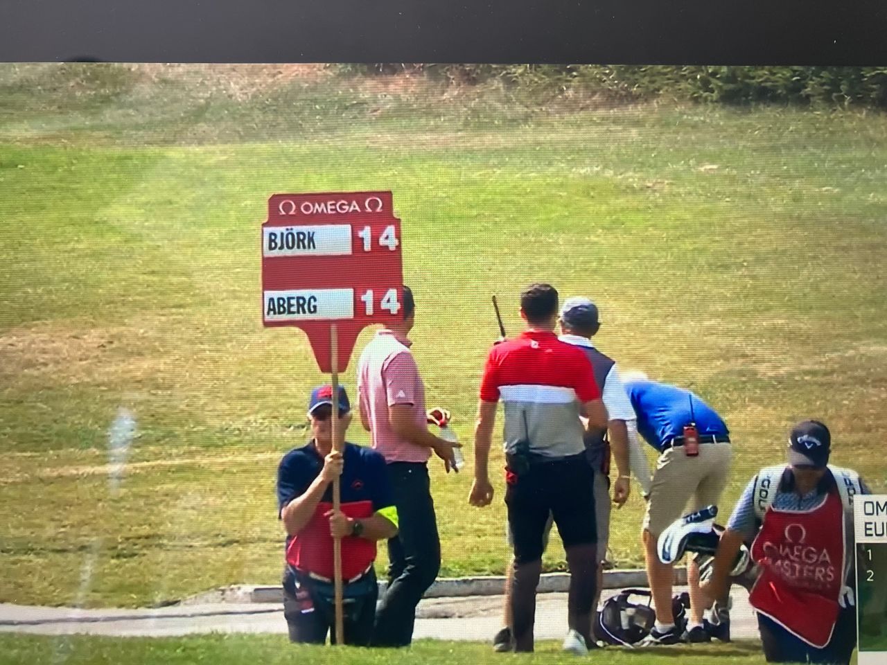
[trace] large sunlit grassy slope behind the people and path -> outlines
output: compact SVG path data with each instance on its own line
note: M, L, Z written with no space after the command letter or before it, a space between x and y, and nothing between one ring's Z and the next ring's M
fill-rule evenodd
M273 192L394 192L428 403L451 409L469 462L490 295L514 333L520 289L547 280L599 302L598 343L624 367L725 416L724 512L806 417L885 488L883 115L481 113L335 80L238 101L51 67L0 66L0 601L134 606L279 579L275 471L323 378L301 332L262 326ZM138 435L114 494L121 407ZM486 510L470 479L434 465L442 575L505 566L501 478ZM619 565L641 559L635 492ZM555 542L546 567L562 559Z

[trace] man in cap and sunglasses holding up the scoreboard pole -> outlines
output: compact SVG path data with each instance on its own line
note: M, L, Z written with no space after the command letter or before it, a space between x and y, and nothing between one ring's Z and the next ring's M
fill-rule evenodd
M279 518L287 529L283 576L284 616L293 642L335 643L334 536L341 537L344 642L365 646L373 635L378 586L373 570L376 542L397 533L397 510L385 458L344 442L351 422L348 395L336 400L341 442L333 445L333 387L311 393L308 405L313 438L280 460ZM333 481L340 479L340 511L333 510Z

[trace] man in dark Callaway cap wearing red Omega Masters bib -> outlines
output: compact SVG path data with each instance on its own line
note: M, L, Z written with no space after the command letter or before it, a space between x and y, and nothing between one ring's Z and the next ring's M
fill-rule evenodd
M767 466L742 492L718 543L703 595L726 593L736 552L750 543L757 581L749 601L767 662L848 664L856 646L853 497L860 474L829 465L818 420L792 429L788 465Z

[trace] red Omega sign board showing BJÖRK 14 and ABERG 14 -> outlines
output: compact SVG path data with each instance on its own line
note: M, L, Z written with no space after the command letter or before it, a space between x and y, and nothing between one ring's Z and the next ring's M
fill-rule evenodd
M321 372L348 367L366 325L403 317L400 220L391 192L274 194L262 225L262 317L308 334Z

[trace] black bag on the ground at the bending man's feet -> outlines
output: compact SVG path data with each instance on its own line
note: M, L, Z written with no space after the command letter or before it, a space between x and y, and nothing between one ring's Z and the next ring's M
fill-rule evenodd
M640 602L632 601L636 597ZM656 621L651 603L653 596L646 589L626 589L604 601L595 615L592 635L595 641L608 645L632 647L646 638ZM675 625L684 630L690 597L684 592L671 599Z

